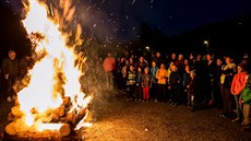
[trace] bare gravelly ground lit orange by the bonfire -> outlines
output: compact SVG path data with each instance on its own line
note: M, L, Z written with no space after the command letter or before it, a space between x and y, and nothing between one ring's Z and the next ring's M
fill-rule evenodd
M0 103L0 133L12 104ZM190 111L186 106L127 102L125 95L104 92L89 104L92 126L82 129L86 141L251 141L241 125L220 118L220 109Z

